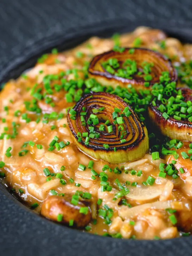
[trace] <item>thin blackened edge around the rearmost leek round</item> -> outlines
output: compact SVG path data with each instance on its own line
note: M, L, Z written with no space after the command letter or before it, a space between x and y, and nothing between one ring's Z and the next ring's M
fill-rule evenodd
M141 50L141 51L147 51L147 52L149 52L149 54L153 54L153 55L156 55L156 58L158 58L158 59L161 59L163 62L167 62L167 66L169 66L169 73L172 73L172 75L171 75L171 80L170 80L170 82L173 82L173 81L175 81L175 82L177 82L177 79L178 79L178 77L177 77L177 71L174 69L174 67L173 67L173 65L172 65L172 63L171 63L171 60L170 59L168 59L168 58L166 58L165 56L163 56L161 53L159 53L159 52L155 52L155 51L153 51L153 50L150 50L150 49L146 49L146 48L139 48L139 47L129 47L129 48L125 48L125 50L122 52L122 53L119 53L119 54L124 54L125 52L128 52L130 49L135 49L135 50ZM140 84L140 85L143 85L144 86L144 83L145 83L145 81L143 82L143 81L137 81L136 79L127 79L127 78L123 78L123 77L118 77L118 76L115 76L115 75L113 75L113 74L110 74L110 73L108 73L107 71L105 71L105 72L101 72L101 71L97 71L97 70L94 70L94 66L95 66L95 64L103 57L103 56L105 56L105 55L109 55L109 58L111 58L111 57L115 57L115 55L116 55L116 52L115 51L113 51L113 50L110 50L110 51L108 51L108 52L104 52L104 53L102 53L102 54L100 54L100 55L97 55L97 56L95 56L92 60L91 60L91 62L90 62L90 65L89 65L89 69L88 69L88 72L91 74L91 75L94 75L94 76L101 76L101 77L106 77L107 79L109 79L109 80L112 80L112 79L116 79L117 81L120 81L120 82L122 82L122 83L129 83L129 84ZM143 61L145 61L145 60L143 60ZM161 74L160 74L161 75ZM156 82L152 82L152 81L148 81L149 82L149 84L150 84L150 86L152 86L154 83L156 83Z

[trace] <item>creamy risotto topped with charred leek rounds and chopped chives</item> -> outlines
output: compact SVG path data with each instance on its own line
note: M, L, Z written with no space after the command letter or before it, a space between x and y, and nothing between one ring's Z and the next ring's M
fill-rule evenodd
M44 217L103 236L192 230L192 45L138 27L45 54L0 92L0 177Z

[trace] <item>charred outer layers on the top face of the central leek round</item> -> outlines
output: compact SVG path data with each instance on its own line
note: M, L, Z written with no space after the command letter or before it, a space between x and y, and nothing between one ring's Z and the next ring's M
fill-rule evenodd
M92 98L91 98L91 96L92 96ZM95 96L95 98L94 98L94 96ZM124 144L126 144L126 145L123 145L123 143L120 142L119 137L115 138L116 139L115 141L117 142L117 144L112 143L109 139L105 139L105 138L96 139L96 140L98 140L98 142L94 141L95 139L90 139L89 145L85 145L83 140L78 143L83 145L83 147L92 149L94 151L107 151L107 152L114 151L114 147L116 147L118 150L119 149L121 149L121 150L130 149L131 150L132 148L139 147L140 143L144 140L144 138L146 136L145 132L144 132L144 124L139 120L138 116L136 115L136 113L134 113L133 109L125 101L123 101L119 96L116 96L116 95L112 95L112 94L109 94L106 92L98 92L98 93L93 92L91 94L84 95L81 98L81 100L79 102L77 102L77 104L73 108L77 113L76 120L74 120L74 122L76 123L75 126L77 127L78 119L80 119L80 112L81 112L81 109L84 104L86 105L87 102L91 102L90 104L94 103L93 105L96 106L96 104L98 104L100 99L105 100L105 98L106 98L106 101L105 101L106 105L110 105L110 103L112 104L112 102L107 101L107 98L108 99L111 98L112 100L114 100L114 101L116 100L119 104L121 104L122 110L124 110L125 107L129 107L129 110L132 113L130 116L132 117L132 119L137 127L137 131L138 131L137 138L135 139L135 128L133 128L132 124L130 123L129 117L124 117L124 119L126 119L126 121L129 123L129 126L131 127L132 133L133 133L132 138L129 141L124 142ZM99 105L97 105L97 106L99 107ZM114 107L119 107L119 105L116 106L114 103ZM67 115L67 121L69 124L69 128L71 130L71 133L73 134L73 136L75 137L75 140L77 141L77 139L78 139L77 130L76 130L76 127L75 128L73 127L73 120L70 119L69 110L68 110L68 115ZM78 130L78 132L82 132L82 131ZM86 131L84 131L84 132L89 132L89 130L86 129ZM127 133L127 135L128 134L129 133ZM103 133L102 135L109 135L109 134ZM114 134L114 137L115 137L115 134ZM101 139L102 139L102 142L100 142ZM133 143L131 142L132 140L134 140ZM94 145L92 145L92 143L94 143ZM127 143L130 143L130 144L127 145ZM108 144L110 147L108 149L105 149L103 147L103 144ZM122 146L120 146L120 145L122 145Z

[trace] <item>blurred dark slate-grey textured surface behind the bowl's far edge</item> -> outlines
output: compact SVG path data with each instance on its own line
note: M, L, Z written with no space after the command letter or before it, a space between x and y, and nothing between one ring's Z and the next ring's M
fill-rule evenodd
M162 20L167 26L179 20L185 26L192 21L191 11L191 0L1 0L0 61L7 62L23 47L69 28L116 18L131 23Z

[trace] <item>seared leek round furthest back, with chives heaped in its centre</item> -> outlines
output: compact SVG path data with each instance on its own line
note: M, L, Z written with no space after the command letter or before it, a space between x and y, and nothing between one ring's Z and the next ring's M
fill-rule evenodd
M169 82L177 81L171 61L158 52L144 48L104 52L92 59L88 69L89 76L103 85L125 87L131 84L137 91L151 89L153 84L160 82L160 76L165 71L169 73Z

